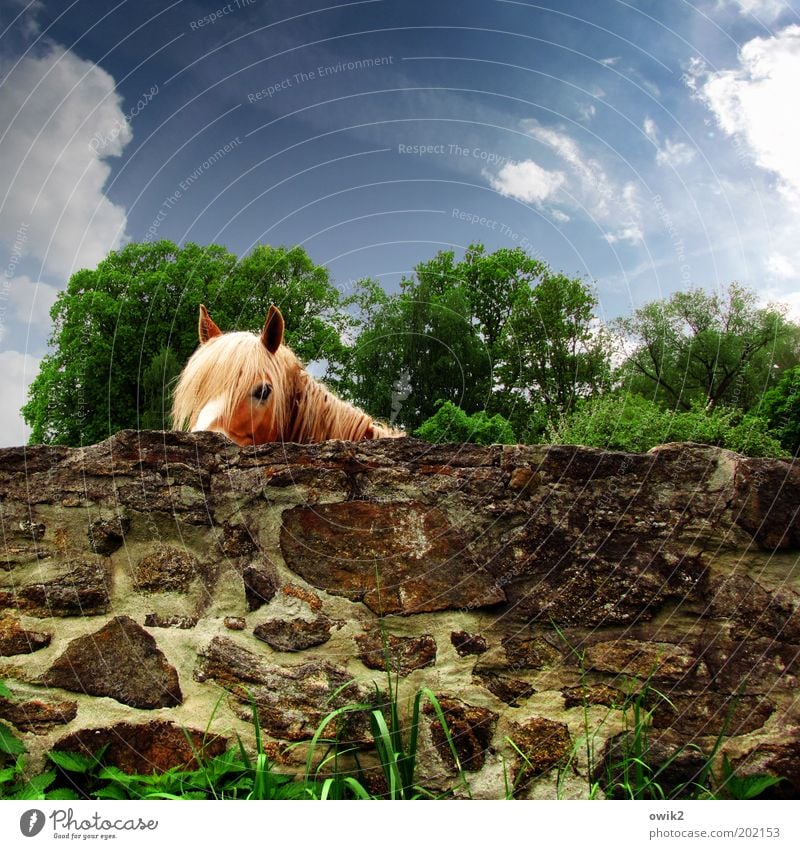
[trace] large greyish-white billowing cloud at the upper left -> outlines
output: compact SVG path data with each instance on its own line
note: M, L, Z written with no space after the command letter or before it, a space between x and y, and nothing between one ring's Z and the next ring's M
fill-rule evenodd
M0 239L11 247L24 227L23 254L66 279L125 238L125 210L103 193L104 160L122 152L130 127L113 78L63 47L3 70Z

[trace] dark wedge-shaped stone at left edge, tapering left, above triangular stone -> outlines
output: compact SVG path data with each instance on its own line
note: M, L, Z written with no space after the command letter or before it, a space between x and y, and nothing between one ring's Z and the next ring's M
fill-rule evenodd
M63 571L48 581L23 584L13 591L0 589L0 609L15 607L35 616L96 616L111 603L105 558L87 555L63 564Z

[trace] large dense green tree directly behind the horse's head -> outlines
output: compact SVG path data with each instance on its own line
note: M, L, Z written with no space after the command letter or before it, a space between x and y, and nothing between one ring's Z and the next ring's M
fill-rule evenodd
M198 305L225 330L255 330L273 302L288 344L335 371L349 319L302 248L261 245L240 262L219 245L132 243L77 272L51 310L53 350L22 409L30 441L85 445L163 427L169 382L197 347Z

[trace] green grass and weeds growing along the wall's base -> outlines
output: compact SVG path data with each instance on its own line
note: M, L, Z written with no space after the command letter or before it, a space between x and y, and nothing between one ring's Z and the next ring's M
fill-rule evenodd
M383 632L382 632L383 633ZM559 632L560 633L560 632ZM561 634L563 638L563 634ZM565 639L565 638L564 638ZM11 728L0 722L0 799L436 799L472 798L469 782L461 764L455 741L436 695L427 687L417 690L411 700L409 719L404 723L400 710L399 674L391 673L391 659L385 635L387 691L375 688L372 703L359 702L331 710L319 723L308 743L305 771L301 775L275 770L270 760L259 721L258 709L251 702L254 733L253 753L241 738L237 745L213 757L204 749L208 729L219 706L215 707L198 748L186 733L197 766L173 767L151 775L130 775L104 763L105 750L94 755L72 752L48 753L48 767L29 777L27 755L22 742ZM570 647L578 658L583 692L583 734L557 770L557 797L563 797L566 779L576 772L578 754L586 760L587 797L589 799L755 799L782 779L770 775L738 775L723 756L719 770L714 765L727 731L728 719L711 751L704 754L694 744L676 746L660 763L652 763L651 728L656 709L669 699L647 680L632 691L619 708L610 708L597 724L592 724L586 697L583 656ZM349 686L351 682L348 682ZM331 696L333 701L340 691ZM0 696L13 698L0 682ZM222 698L222 697L221 697ZM427 701L441 726L455 766L453 786L433 791L418 778L419 742L423 702ZM621 712L623 731L600 761L596 754L598 735L609 717ZM344 738L347 719L366 714L374 743L377 766L365 766L363 747ZM732 713L732 709L731 709ZM523 783L531 778L533 765L512 739L505 742L520 759L516 775L509 775L504 764L505 797L512 799ZM299 744L298 744L299 745ZM685 755L696 756L699 766L686 781L677 783L670 770ZM535 776L534 776L535 777ZM379 786L380 785L380 786Z

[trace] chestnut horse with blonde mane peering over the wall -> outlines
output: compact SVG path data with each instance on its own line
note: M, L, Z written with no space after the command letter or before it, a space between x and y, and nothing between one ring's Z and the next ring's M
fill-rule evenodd
M173 427L217 431L238 445L405 435L315 380L283 343L283 334L283 316L274 304L260 335L223 333L201 304L200 345L175 387Z

